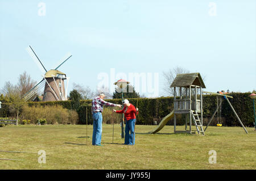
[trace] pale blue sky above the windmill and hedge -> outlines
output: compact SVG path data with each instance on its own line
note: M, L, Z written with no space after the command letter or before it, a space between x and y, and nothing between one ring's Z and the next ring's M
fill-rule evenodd
M39 16L46 5L46 14ZM216 14L210 3L216 5ZM256 89L256 1L0 1L0 87L46 69L96 89L100 73L159 73L180 66L205 76L205 91ZM212 11L211 11L212 12ZM115 81L123 77L115 77ZM131 81L131 80L128 80ZM108 85L114 82L109 81ZM136 89L136 87L135 87ZM146 93L147 95L147 93Z

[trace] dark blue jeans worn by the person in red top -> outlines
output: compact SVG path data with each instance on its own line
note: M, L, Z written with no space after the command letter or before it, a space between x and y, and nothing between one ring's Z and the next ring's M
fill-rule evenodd
M125 125L125 145L134 145L135 144L135 127L136 119L126 120ZM134 137L134 138L133 138Z

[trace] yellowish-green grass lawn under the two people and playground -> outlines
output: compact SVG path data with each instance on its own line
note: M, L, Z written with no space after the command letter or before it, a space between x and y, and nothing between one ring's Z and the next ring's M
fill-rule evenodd
M120 125L103 125L102 145L92 146L92 125L10 125L0 128L0 169L255 169L254 128L209 127L206 136L174 134L173 126L147 134L154 125L136 125L135 145L122 145ZM184 126L177 126L183 130ZM46 164L38 151L46 151ZM217 152L210 164L209 150Z

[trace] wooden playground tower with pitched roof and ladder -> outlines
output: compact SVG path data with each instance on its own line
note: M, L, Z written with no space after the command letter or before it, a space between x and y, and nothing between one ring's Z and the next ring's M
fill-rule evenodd
M202 89L206 87L200 73L177 74L171 87L174 87L174 133L197 132L204 135ZM176 131L177 114L185 114L185 131ZM196 127L194 131L191 129L192 121Z

